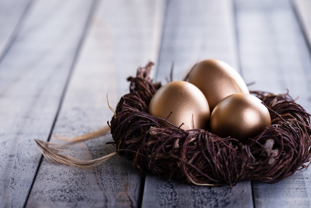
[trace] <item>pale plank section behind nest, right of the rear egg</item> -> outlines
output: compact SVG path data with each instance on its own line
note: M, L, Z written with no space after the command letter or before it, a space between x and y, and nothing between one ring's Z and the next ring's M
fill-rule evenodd
M310 53L288 0L236 0L242 74L249 88L275 94L289 89L308 111Z

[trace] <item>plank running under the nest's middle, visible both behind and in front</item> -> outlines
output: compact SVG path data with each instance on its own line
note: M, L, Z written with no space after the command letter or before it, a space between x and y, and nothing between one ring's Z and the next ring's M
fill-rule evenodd
M174 80L182 79L198 60L216 58L237 67L232 6L233 2L228 0L168 1L156 80L165 83L172 62ZM144 208L252 206L249 181L230 190L180 185L150 175L146 177L142 205Z

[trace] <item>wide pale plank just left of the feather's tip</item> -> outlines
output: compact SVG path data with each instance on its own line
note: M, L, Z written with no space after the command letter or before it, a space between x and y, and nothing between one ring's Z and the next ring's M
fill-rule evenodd
M36 1L0 63L0 207L23 207L84 31L91 1ZM75 22L75 24L72 24Z

